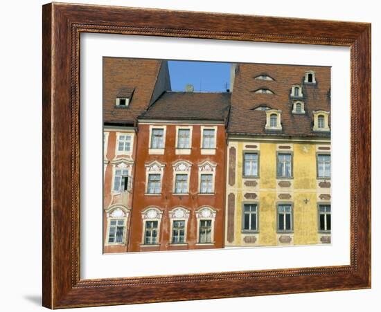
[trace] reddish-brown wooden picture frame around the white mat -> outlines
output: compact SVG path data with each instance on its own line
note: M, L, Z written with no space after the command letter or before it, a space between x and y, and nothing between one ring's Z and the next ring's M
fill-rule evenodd
M43 305L51 309L371 287L371 24L49 3L43 6ZM351 264L80 278L81 33L351 47Z

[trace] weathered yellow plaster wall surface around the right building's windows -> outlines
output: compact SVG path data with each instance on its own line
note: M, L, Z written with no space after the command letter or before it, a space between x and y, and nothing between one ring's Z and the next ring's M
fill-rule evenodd
M247 187L242 180L242 152L245 145L252 141L237 141L236 185L229 192L236 194L236 213L234 228L234 246L242 245L242 202L245 199ZM258 144L258 143L256 143ZM318 244L318 214L317 214L317 147L316 143L292 143L287 141L260 142L259 149L259 183L255 199L259 206L259 235L256 245L274 246L278 244L276 232L276 205L280 202L293 203L294 245ZM277 144L292 145L293 178L292 187L283 189L276 180L276 146ZM289 200L278 199L279 193L292 195Z

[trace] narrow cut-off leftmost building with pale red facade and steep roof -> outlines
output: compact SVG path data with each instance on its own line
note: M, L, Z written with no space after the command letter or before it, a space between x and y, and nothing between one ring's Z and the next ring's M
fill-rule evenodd
M150 59L103 59L104 253L128 251L136 164L136 118L170 89L168 64Z

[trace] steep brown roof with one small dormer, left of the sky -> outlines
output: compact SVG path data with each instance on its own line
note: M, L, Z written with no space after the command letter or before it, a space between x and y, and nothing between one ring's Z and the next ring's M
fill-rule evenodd
M155 100L154 97L166 89L170 89L166 61L122 57L103 58L105 122L133 123L137 116ZM117 97L132 100L128 107L116 107Z

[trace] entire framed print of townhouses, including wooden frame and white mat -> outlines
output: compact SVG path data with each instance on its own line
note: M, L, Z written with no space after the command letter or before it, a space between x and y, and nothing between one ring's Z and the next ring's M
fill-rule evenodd
M44 6L43 305L369 288L370 46L363 23Z

